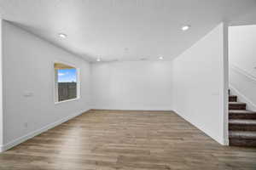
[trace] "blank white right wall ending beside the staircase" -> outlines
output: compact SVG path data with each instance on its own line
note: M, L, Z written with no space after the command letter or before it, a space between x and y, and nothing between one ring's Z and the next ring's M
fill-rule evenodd
M174 111L227 144L227 31L220 24L173 60Z

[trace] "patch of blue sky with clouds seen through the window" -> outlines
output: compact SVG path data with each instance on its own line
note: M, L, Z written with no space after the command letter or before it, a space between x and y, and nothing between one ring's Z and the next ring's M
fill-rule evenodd
M77 82L77 69L59 69L58 82Z

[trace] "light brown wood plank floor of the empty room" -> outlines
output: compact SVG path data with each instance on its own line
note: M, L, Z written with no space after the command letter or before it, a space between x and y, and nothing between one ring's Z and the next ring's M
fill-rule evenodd
M0 155L4 170L256 169L172 111L88 111Z

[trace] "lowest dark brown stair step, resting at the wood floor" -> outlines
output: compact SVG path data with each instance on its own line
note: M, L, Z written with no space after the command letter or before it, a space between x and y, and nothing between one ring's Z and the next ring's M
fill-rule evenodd
M256 147L256 132L230 131L231 146Z

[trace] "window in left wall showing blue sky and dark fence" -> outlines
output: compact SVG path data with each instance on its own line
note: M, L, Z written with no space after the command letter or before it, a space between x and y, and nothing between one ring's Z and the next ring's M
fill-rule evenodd
M79 98L79 69L55 63L55 102Z

